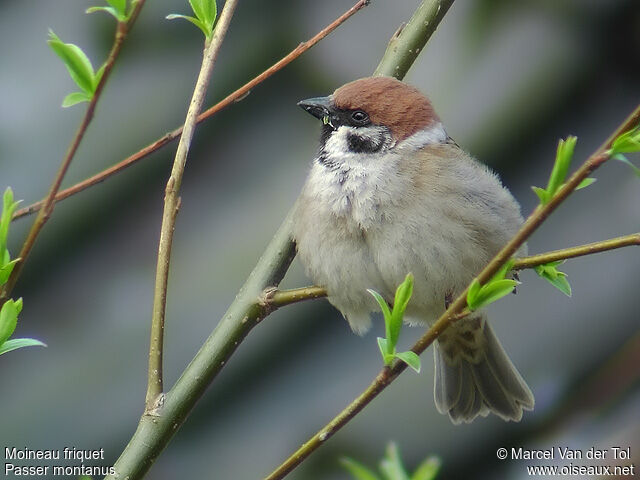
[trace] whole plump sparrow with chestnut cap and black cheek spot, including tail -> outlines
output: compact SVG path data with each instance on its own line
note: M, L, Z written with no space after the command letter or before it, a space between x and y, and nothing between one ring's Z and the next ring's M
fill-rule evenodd
M293 211L306 274L364 334L379 311L367 289L392 302L411 272L405 322L433 323L520 228L518 202L447 135L431 102L399 80L362 78L298 105L323 123ZM490 412L519 421L533 409L484 312L442 332L434 354L436 408L453 423Z

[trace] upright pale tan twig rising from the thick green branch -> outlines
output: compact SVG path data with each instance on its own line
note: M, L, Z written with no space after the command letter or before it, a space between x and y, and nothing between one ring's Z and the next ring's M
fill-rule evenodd
M151 318L151 344L149 348L149 373L145 412L157 414L161 402L162 389L162 353L164 344L164 317L167 305L167 286L169 280L169 265L171 263L171 245L176 224L176 216L180 207L180 185L187 163L187 155L191 147L191 139L197 125L198 113L204 103L209 79L213 72L216 58L222 47L222 42L229 29L231 18L235 12L238 0L227 0L224 3L220 17L216 22L211 41L205 42L205 51L198 81L193 90L191 104L187 111L180 142L173 161L171 176L167 182L164 196L164 212L162 214L162 228L160 230L160 245L158 247L158 265L156 269L156 283L153 296L153 315ZM207 44L208 43L208 44Z

